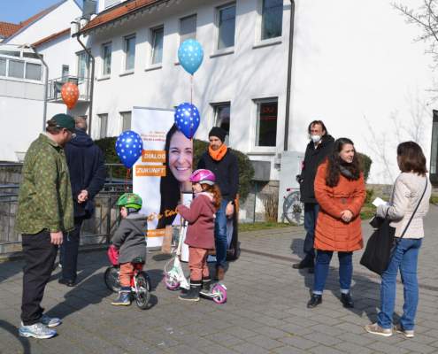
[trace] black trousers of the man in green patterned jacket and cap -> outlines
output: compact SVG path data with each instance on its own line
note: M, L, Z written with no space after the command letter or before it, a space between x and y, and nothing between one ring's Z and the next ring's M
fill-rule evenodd
M21 320L25 326L31 326L40 320L44 311L40 304L57 258L58 245L51 243L47 228L35 235L23 235L22 244L26 269L23 276Z

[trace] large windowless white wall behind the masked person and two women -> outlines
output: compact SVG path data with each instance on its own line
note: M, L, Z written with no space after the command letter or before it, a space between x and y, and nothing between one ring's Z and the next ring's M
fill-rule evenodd
M386 1L296 0L289 149L304 150L309 122L322 119L331 135L349 137L373 159L370 183L396 179L399 141L419 142L428 165L436 104L427 105L425 91L428 45L413 43L420 33Z

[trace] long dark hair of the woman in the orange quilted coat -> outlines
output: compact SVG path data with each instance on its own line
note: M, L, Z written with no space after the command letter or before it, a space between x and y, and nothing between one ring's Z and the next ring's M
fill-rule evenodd
M354 156L353 161L348 164L339 157L339 153L342 151L343 146L345 144L353 145ZM340 138L336 139L333 144L333 148L328 155L328 165L327 165L327 176L326 176L326 184L328 187L336 187L339 182L339 176L341 175L341 167L342 165L351 173L351 180L358 180L360 178L360 173L362 170L360 169L359 159L357 158L356 149L354 149L354 143L351 142L348 138Z

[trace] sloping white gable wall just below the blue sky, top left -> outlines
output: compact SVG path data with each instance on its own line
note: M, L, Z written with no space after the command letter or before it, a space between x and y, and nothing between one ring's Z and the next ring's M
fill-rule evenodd
M54 35L70 27L70 22L80 17L81 8L73 0L68 0L52 11L48 12L42 19L37 20L30 27L22 30L18 35L8 41L11 44L35 43L49 35Z

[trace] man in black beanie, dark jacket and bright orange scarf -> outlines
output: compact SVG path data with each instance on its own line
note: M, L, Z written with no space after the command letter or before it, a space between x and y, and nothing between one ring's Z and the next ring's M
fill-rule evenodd
M209 134L210 148L199 159L197 169L210 170L220 189L222 203L216 212L214 238L216 243L216 274L214 279L224 279L227 258L227 218L234 214L235 198L239 186L239 162L224 144L227 132L221 127L213 127Z

